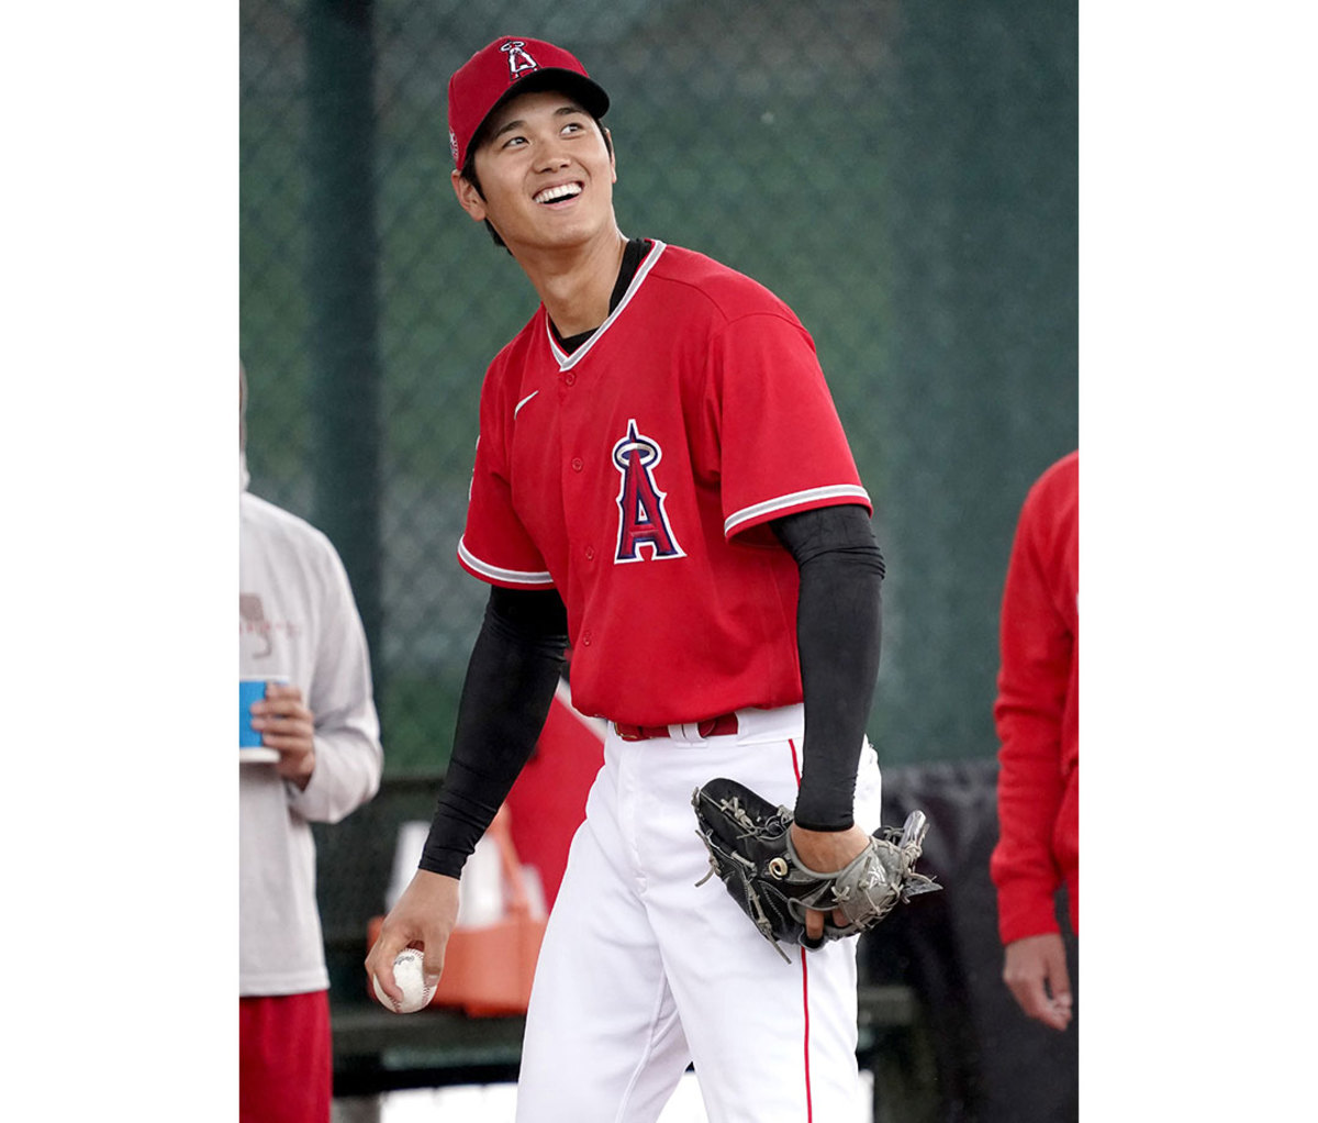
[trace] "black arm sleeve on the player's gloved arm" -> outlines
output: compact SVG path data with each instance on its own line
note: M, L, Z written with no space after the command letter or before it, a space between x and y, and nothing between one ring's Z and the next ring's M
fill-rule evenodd
M883 555L865 507L822 507L771 526L801 571L796 645L805 747L796 821L808 830L846 830L879 672Z

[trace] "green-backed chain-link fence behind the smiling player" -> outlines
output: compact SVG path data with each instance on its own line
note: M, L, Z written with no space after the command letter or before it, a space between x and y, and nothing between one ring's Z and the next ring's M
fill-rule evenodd
M344 555L390 772L448 757L486 596L455 562L480 382L535 307L449 186L448 75L505 33L609 91L623 232L755 277L813 335L888 560L880 758L995 751L1016 511L1078 440L1074 0L240 12L252 488Z

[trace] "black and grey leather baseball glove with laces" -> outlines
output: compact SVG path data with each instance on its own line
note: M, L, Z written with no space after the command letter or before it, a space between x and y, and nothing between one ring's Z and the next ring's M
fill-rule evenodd
M792 848L792 812L774 807L735 780L718 778L696 788L697 833L709 849L709 873L722 878L728 892L778 953L791 961L779 941L812 945L805 936L805 911L825 915L824 938L855 936L883 920L899 902L941 890L915 871L929 821L912 811L905 825L880 826L851 862L830 874L808 869ZM833 921L840 909L846 923Z

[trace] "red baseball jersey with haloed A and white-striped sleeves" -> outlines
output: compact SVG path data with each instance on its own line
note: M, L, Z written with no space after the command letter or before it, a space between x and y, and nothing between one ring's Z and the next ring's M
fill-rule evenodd
M634 725L801 701L799 572L766 523L873 510L780 299L655 241L572 355L542 306L490 364L459 560L556 588L572 701Z

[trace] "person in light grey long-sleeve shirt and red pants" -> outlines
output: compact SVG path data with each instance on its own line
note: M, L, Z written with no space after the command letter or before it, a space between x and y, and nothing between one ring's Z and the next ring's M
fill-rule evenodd
M239 675L272 680L252 725L279 754L239 766L240 1118L328 1123L330 974L311 824L372 799L384 751L348 575L324 534L246 490L241 364L240 388Z

